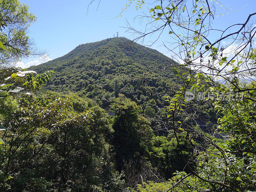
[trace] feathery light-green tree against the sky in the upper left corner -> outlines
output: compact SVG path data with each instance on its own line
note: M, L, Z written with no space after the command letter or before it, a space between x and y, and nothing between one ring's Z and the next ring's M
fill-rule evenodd
M26 4L18 0L0 2L0 64L14 65L20 58L41 55L28 37L28 28L36 21Z

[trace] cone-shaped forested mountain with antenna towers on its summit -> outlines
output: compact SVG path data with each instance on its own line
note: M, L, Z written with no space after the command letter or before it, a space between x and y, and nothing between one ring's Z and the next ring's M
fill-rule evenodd
M42 73L54 70L52 83L45 89L56 92L77 92L108 108L119 93L131 98L143 109L149 100L155 100L155 112L161 107L161 95L150 92L170 92L180 86L173 70L156 70L145 76L145 72L159 66L172 65L173 60L162 53L137 44L127 38L108 38L102 41L80 44L68 54L30 69ZM131 80L136 79L137 80ZM151 101L153 102L153 101ZM154 102L153 102L154 103ZM158 106L157 106L158 105ZM153 111L154 112L154 111Z

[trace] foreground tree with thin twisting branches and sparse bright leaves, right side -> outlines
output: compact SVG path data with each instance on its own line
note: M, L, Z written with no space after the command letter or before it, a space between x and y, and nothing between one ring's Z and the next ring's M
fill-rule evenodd
M144 3L142 1L137 5L137 9L144 6ZM250 106L255 105L256 86L252 84L248 87L241 80L252 79L255 74L253 40L256 33L256 12L248 14L242 24L219 29L212 28L212 22L221 16L216 14L216 1L159 0L154 3L156 6L149 10L149 14L139 17L148 20L145 32L132 28L129 23L127 30L137 36L134 41L152 34L157 34L155 41L161 39L162 33L170 35L170 39L163 45L173 53L176 62L173 64L170 60L170 65L160 66L159 70L172 68L182 83L178 91L174 90L174 94L163 94L170 104L167 116L169 122L164 126L167 130L173 130L182 156L184 154L179 135L186 135L188 139L196 139L199 143L197 146L191 143L194 147L191 154L194 163L189 164L183 157L190 173L179 174L177 178L180 180L166 191L174 188L184 190L186 185L191 186L186 188L192 191L255 189L255 112ZM228 44L221 45L222 41ZM230 48L234 52L228 58L225 54ZM153 71L148 71L150 72ZM188 102L185 100L188 91L209 94L204 100ZM148 92L155 94L150 89ZM233 100L224 101L219 97L220 94L226 100ZM220 120L222 123L219 127L230 136L228 142L216 142L215 138L195 126L198 119L195 114L199 105L213 105L223 112L225 116ZM191 109L193 112L188 113ZM242 123L244 120L245 124ZM250 141L246 138L250 138ZM245 145L246 142L249 145Z

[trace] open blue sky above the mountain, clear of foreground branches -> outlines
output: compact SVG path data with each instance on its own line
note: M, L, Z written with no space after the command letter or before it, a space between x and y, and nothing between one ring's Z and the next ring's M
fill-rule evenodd
M133 22L134 16L143 12L148 13L148 8L156 5L146 4L142 10L137 12L134 8L135 3L133 3L128 10L124 11L122 17L115 18L125 7L125 4L129 3L128 0L101 0L99 7L99 0L95 0L89 6L87 14L87 7L90 2L91 0L20 0L20 3L27 4L30 7L30 12L37 17L36 23L30 27L29 36L34 39L38 49L47 51L48 57L46 56L45 61L61 57L79 44L113 37L117 31L119 36L133 39L133 36L125 33L126 29L122 28L126 26L126 20L133 27L141 29L139 20ZM153 1L146 0L146 3L150 2ZM226 8L232 8L236 12L218 17L213 24L216 28L225 28L227 25L242 23L249 13L256 11L256 0L222 0L221 2ZM220 12L222 11L220 4L216 4L216 8ZM170 56L170 53L163 46L159 47L165 40L168 40L168 34L164 34L162 39L151 48ZM150 38L145 39L144 43L148 44L148 41ZM39 58L28 58L22 59L21 65L28 67L43 62Z

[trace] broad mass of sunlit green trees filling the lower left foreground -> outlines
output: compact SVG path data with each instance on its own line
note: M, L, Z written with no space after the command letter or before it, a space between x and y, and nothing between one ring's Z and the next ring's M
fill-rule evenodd
M108 156L113 130L104 109L76 94L56 92L10 96L0 105L14 111L0 116L7 127L1 132L2 191L111 191L118 186Z

